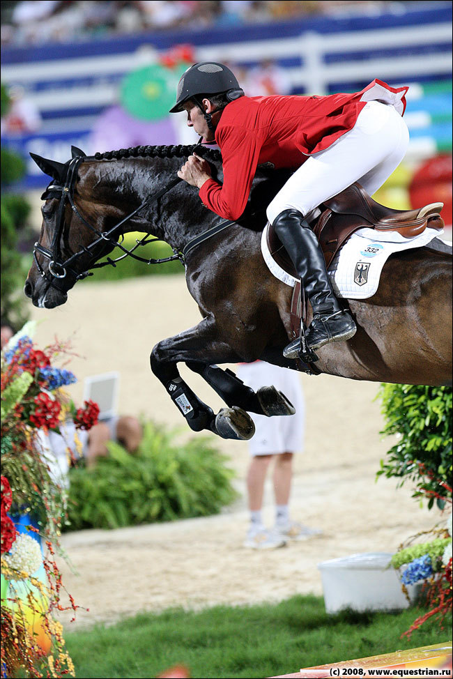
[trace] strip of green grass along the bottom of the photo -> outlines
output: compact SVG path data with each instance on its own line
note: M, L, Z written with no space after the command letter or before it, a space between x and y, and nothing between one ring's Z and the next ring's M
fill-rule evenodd
M142 613L68 632L65 639L77 678L148 678L175 664L187 666L194 678L263 678L450 639L450 620L443 630L427 623L410 640L400 639L420 613L332 616L321 597L295 596L279 604Z

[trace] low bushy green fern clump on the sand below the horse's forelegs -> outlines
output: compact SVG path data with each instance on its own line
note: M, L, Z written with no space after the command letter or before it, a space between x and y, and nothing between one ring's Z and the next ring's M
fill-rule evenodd
M135 454L111 441L96 466L72 469L69 530L201 517L231 503L227 458L207 438L178 444L176 433L146 422Z

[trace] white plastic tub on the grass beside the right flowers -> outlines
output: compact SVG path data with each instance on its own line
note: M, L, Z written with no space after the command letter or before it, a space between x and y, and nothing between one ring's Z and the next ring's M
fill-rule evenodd
M389 567L392 556L387 552L351 554L318 564L327 613L347 608L353 611L408 608L398 572ZM410 600L418 590L417 586L408 586Z

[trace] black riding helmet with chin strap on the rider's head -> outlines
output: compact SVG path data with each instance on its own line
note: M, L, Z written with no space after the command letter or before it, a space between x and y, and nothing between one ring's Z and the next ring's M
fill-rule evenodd
M244 96L244 91L240 89L236 76L223 63L217 63L216 61L194 63L181 76L176 93L176 104L169 112L178 113L182 111L183 103L188 99L193 99L203 112L209 127L212 129L210 114L204 112L198 96L201 94L220 94L221 92L226 94L229 101Z

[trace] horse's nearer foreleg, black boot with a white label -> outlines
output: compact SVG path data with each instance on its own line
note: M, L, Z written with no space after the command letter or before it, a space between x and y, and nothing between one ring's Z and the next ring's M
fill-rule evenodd
M221 360L232 363L239 356L225 344L219 342L213 319L203 319L195 328L159 342L151 353L151 369L162 382L172 401L183 413L187 424L194 432L208 429L222 438L251 438L254 434L252 418L238 406L222 409L217 415L187 386L178 372L177 363L214 363Z

